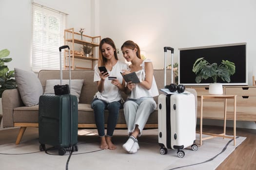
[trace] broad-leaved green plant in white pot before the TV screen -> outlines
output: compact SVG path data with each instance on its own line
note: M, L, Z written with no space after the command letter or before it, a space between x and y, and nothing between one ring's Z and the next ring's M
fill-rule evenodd
M209 85L209 94L221 95L223 94L222 84L217 83L218 78L224 82L230 82L230 76L236 72L234 63L228 60L222 60L218 66L217 63L210 64L203 57L198 58L193 65L193 72L195 72L196 82L200 83L202 79L212 78L213 83Z

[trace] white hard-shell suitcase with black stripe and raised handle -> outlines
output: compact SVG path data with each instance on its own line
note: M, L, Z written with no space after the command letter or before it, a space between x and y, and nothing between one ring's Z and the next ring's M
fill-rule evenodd
M172 52L172 66L174 49L164 47L164 85L166 85L166 53ZM172 73L173 74L173 73ZM173 83L173 75L172 75ZM166 154L167 149L177 149L177 156L185 155L182 149L189 146L193 151L197 151L196 141L196 109L195 96L184 91L183 93L170 92L169 89L160 89L164 91L158 96L158 144L160 153Z

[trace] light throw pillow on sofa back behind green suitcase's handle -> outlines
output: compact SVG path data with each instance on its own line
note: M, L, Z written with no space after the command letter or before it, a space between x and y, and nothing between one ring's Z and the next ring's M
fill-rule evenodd
M69 85L69 80L62 80L62 85ZM59 85L59 80L49 79L46 80L44 94L54 94L54 85ZM78 102L83 86L83 79L71 80L71 94L77 96Z

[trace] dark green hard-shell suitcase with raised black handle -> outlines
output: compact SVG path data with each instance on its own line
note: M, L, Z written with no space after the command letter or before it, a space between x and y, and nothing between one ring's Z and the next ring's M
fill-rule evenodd
M61 49L68 48L69 64L70 49L68 46L59 47L59 59L61 63ZM70 66L70 65L69 65ZM58 95L42 95L39 98L39 150L45 151L45 145L52 145L59 149L59 155L66 153L66 150L78 151L78 99L71 94L71 69L69 68L69 86L62 86L62 67L60 65L59 88L68 87ZM54 87L53 87L54 88ZM55 89L55 88L54 88ZM67 92L68 91L68 92Z

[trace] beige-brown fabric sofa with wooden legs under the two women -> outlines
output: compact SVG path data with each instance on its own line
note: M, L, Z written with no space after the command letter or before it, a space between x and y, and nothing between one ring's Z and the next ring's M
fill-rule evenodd
M63 71L63 79L68 79L68 71ZM155 79L159 88L164 87L164 70L154 70ZM93 109L90 103L93 96L97 92L97 85L93 82L94 70L73 70L71 73L72 79L84 79L81 89L78 104L78 123L79 128L96 128ZM167 85L170 84L171 70L167 70ZM59 79L58 70L41 70L38 78L45 89L46 80ZM196 90L188 89L195 94ZM160 92L159 92L160 94ZM123 94L124 100L126 95ZM158 97L154 98L158 102ZM196 100L197 102L197 100ZM196 103L197 105L197 103ZM20 140L26 130L26 127L38 127L38 109L39 106L24 106L18 89L8 89L2 94L2 112L3 112L3 127L20 127L20 132L17 136L16 144ZM108 110L105 112L105 117L108 116ZM107 120L107 119L105 119ZM118 117L116 128L126 128L126 123L121 109ZM158 128L158 111L155 110L149 117L145 128Z

